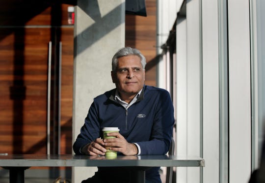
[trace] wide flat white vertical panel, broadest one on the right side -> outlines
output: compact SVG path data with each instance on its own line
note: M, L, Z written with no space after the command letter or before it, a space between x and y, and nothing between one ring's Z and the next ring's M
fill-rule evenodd
M251 172L249 1L228 1L229 180L247 183ZM242 161L243 160L243 161Z

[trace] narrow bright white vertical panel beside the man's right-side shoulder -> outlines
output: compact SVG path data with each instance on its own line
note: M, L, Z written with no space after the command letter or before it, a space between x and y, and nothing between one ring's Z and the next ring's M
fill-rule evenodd
M187 154L187 55L186 55L186 19L177 19L176 45L176 154ZM182 90L179 90L182 89ZM187 182L187 168L176 169L177 183Z

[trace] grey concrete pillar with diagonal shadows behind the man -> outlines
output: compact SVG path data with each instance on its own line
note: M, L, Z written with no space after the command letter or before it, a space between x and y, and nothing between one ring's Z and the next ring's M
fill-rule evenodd
M115 87L111 59L125 45L125 0L78 0L75 12L73 142L93 98ZM80 183L97 168L72 170L72 182Z

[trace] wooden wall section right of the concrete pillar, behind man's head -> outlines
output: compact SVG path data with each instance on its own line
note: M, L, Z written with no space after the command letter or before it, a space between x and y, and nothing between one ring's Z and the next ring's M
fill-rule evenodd
M145 84L156 86L156 39L157 39L157 2L146 0L147 17L126 15L125 46L137 48L145 56Z

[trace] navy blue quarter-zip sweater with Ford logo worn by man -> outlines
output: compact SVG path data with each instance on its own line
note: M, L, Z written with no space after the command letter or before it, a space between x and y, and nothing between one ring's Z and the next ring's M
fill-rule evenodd
M81 147L102 137L103 127L119 127L129 143L139 145L141 155L165 154L174 124L174 108L168 91L144 86L137 101L126 110L115 101L115 90L94 98L73 145L74 152L80 154ZM157 175L158 168L146 171L146 179Z

